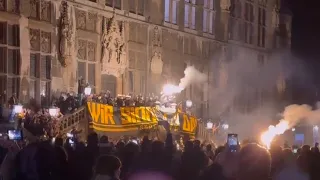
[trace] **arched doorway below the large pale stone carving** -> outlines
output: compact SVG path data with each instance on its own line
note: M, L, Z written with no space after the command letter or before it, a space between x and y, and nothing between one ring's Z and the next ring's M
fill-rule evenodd
M110 91L111 96L115 97L117 94L117 78L113 75L101 75L101 92Z

